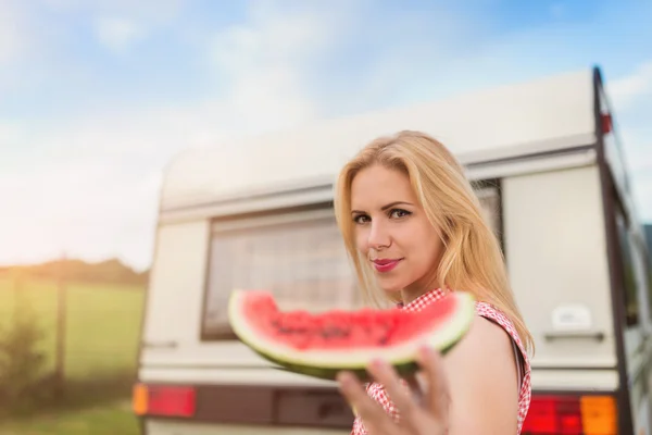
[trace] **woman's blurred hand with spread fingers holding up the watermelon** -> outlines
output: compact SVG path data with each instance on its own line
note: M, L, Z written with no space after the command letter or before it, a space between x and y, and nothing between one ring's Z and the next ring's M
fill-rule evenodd
M342 372L338 375L342 396L355 409L369 435L447 434L450 394L441 357L430 349L422 349L417 362L422 368L426 390L416 391L416 395L410 394L389 364L378 361L367 369L375 381L385 386L398 408L398 424L367 395L352 373ZM416 382L411 384L413 388L418 388ZM422 400L415 396L421 396Z

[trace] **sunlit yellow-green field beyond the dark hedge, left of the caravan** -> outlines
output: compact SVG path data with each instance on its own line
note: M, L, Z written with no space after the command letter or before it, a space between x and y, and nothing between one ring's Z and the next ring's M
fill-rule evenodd
M39 320L41 348L54 368L58 289L55 283L25 281L21 288L0 279L0 325L11 321L16 298ZM138 286L71 283L66 286L65 376L95 378L136 368L145 291Z

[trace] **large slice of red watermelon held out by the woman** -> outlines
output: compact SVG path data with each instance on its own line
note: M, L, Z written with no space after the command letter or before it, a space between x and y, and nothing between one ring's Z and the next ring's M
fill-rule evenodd
M268 291L235 290L228 316L238 338L281 370L334 380L350 370L367 380L366 366L383 358L403 375L417 369L418 347L446 353L471 327L474 298L453 291L419 312L399 309L321 313L279 311Z

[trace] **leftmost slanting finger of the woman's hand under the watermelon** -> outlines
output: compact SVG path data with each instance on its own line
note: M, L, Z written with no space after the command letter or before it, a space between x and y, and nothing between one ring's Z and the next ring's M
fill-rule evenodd
M391 435L396 433L394 422L383 407L368 396L360 381L352 373L340 372L337 375L337 381L342 396L355 409L369 434Z

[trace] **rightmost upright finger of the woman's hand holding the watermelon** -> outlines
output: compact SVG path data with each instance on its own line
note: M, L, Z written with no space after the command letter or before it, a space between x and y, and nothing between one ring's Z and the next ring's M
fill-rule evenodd
M443 360L432 349L423 348L419 352L418 364L422 366L427 383L425 405L436 419L446 422L449 417L450 390Z

